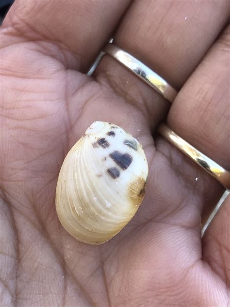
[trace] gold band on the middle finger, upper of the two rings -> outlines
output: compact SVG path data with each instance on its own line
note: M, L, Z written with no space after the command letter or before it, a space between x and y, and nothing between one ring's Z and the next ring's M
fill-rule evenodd
M154 88L158 93L163 95L164 98L169 102L174 101L175 97L177 96L177 91L156 72L134 58L130 53L116 47L111 43L108 43L104 47L103 52L108 53L123 66L131 70L141 80Z

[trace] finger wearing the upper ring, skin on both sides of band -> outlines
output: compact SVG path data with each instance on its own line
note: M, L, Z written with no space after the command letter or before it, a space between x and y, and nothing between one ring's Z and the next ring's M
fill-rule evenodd
M115 44L179 89L226 23L227 7L227 1L134 1ZM168 102L108 55L95 78L140 108L152 126L168 110Z

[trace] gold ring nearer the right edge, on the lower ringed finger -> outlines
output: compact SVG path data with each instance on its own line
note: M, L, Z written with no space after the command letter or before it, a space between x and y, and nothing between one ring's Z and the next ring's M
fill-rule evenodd
M182 153L189 156L200 167L217 179L225 188L230 189L230 171L226 171L219 164L215 163L212 159L205 154L198 151L195 147L190 145L175 132L173 132L165 124L158 127L158 132L164 136L173 146L178 148Z

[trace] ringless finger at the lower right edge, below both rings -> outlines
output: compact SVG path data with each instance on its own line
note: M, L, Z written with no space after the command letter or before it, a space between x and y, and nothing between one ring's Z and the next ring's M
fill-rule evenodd
M203 239L203 259L230 285L230 195L217 211Z

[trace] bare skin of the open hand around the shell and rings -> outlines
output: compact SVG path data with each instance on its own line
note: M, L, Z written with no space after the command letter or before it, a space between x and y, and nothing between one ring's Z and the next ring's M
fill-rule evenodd
M229 305L230 198L201 239L224 189L156 134L165 119L230 168L227 21L225 0L15 2L0 28L1 306ZM112 35L181 89L172 105L109 56L84 74ZM62 162L95 120L138 137L149 163L136 216L100 246L55 211Z

